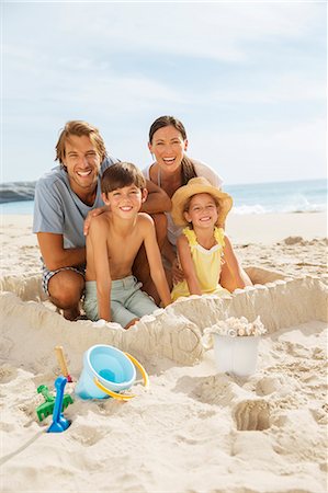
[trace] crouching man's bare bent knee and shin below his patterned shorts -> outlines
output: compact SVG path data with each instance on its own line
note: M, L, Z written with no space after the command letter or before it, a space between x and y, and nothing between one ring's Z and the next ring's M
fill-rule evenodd
M52 275L47 283L50 301L63 309L67 320L76 320L80 314L80 299L84 289L83 274L65 270Z

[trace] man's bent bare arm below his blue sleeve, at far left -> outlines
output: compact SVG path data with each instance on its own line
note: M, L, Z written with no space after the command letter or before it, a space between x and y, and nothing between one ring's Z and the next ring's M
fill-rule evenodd
M86 249L65 249L63 234L38 232L37 241L43 261L49 271L72 267L86 262Z

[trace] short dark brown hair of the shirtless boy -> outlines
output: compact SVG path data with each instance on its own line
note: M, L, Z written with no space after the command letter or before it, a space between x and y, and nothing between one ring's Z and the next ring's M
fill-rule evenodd
M116 162L108 168L101 179L101 191L104 194L124 186L135 185L146 187L146 180L142 171L131 162Z

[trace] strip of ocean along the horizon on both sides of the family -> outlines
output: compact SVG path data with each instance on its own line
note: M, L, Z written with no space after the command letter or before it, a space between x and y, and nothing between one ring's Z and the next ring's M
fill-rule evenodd
M0 184L1 214L33 214L35 182ZM327 210L327 181L226 185L235 214L317 213Z

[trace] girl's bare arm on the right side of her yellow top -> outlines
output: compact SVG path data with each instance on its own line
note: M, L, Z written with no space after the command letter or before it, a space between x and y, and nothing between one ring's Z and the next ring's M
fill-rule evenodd
M233 293L237 288L251 286L251 280L240 267L238 259L234 252L228 237L225 236L225 246L223 249L225 263L222 266L219 284L222 287Z

